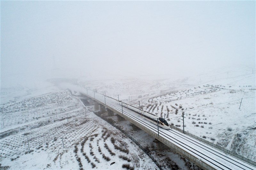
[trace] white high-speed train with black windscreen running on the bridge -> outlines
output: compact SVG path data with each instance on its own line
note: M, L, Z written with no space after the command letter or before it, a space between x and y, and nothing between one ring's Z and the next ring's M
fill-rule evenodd
M158 118L158 126L164 128L164 129L170 129L169 124L167 121L162 117L156 117L156 115L153 115L152 113L149 113L148 111L142 110L140 108L134 107L132 105L123 104L123 107L126 107L137 114L141 115L144 119L148 120L149 122L152 122L157 125L157 118Z

